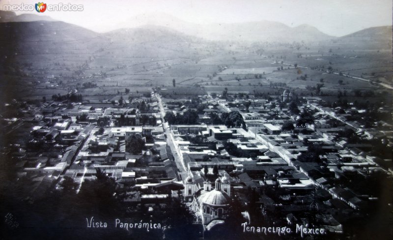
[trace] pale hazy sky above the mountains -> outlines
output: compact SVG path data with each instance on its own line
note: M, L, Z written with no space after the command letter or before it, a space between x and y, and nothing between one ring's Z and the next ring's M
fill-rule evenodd
M44 1L44 0L41 0ZM0 0L3 4L35 4L38 0ZM291 27L309 24L334 36L369 27L392 25L392 0L48 0L47 4L83 4L82 12L17 12L102 31L145 13L162 12L193 23L270 20ZM104 28L103 26L106 26Z

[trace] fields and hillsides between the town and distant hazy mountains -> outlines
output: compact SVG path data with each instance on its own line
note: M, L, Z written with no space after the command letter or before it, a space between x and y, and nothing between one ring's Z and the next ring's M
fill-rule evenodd
M131 94L142 94L153 87L167 89L165 93L172 95L183 95L192 86L217 92L226 87L230 91L294 89L311 93L323 84L320 90L330 95L338 90L384 89L359 79L328 74L329 68L365 80L388 85L393 82L388 51L391 45L386 42L343 38L315 44L228 44L154 27L99 34L65 23L44 25L46 28L39 32L29 23L26 28L31 28L33 34L28 39L16 38L16 45L9 48L17 49L16 53L7 52L4 46L4 55L12 56L2 65L6 74L1 87L9 93L3 96L5 101L72 91L83 94L85 99L103 100L124 94L125 88ZM49 47L45 52L37 51L43 41ZM89 82L97 87L84 88ZM196 89L196 94L202 94L200 88Z

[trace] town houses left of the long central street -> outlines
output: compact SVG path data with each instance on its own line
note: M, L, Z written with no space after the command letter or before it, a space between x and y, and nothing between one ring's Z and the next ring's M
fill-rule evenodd
M150 109L143 112L99 101L45 102L29 107L25 117L12 124L14 131L5 127L4 134L25 131L20 144L7 148L6 154L13 158L19 177L31 180L26 198L34 201L50 188L61 188L65 177L81 185L94 179L97 169L120 186L142 190L150 198L155 197L151 193L168 193L170 186L179 189L180 176L157 102L144 98ZM132 135L142 137L146 150L138 154L126 150Z

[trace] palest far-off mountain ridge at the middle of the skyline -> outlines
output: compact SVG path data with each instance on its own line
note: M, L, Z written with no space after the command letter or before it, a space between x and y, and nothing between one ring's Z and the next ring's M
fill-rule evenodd
M335 38L309 25L291 28L274 21L195 24L162 13L134 16L118 26L121 28L135 28L144 25L167 27L187 35L198 36L208 40L311 42Z

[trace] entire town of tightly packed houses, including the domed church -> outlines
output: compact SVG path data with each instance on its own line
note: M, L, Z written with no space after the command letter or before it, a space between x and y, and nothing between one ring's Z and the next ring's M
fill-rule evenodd
M145 99L150 109L143 112L100 102L72 108L69 103L46 102L31 107L27 117L3 131L31 126L26 147L8 152L19 176L32 182L31 199L61 187L65 177L82 185L100 169L131 193L128 204L157 204L181 194L205 229L225 222L234 195L249 203L249 189L257 189L255 204L262 215L280 210L288 224L303 224L305 210L317 206L320 223L341 233L336 219L345 221L375 201L372 194L344 186L341 180L353 175L366 179L392 169L381 168L383 159L369 154L370 144L351 144L340 132L351 128L360 138L383 136L388 144L391 132L347 121L335 109L321 107L317 98L305 98L298 106L300 114L293 114L286 104L294 97L289 91L273 100L247 97L199 96L204 108L198 110L197 124L172 124L169 129L162 113L181 115L190 109L190 99L163 98L160 106L152 97ZM240 113L243 128L213 124L212 113L232 111ZM312 120L302 121L303 112ZM332 119L342 124L333 126ZM288 124L289 129L284 127ZM145 142L145 150L137 154L127 149L133 135ZM186 167L187 178L179 174L179 164Z

